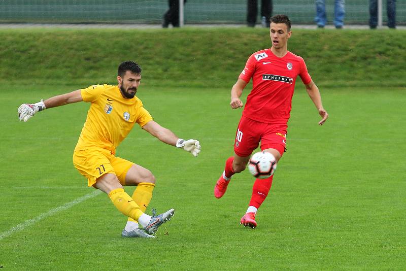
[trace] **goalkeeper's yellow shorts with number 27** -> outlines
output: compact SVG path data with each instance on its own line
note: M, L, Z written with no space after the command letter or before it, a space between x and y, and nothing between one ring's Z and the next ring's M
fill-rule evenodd
M87 149L74 151L73 164L88 180L88 186L94 186L97 178L106 173L115 174L122 185L125 185L125 175L134 164L125 159L115 157L106 149Z

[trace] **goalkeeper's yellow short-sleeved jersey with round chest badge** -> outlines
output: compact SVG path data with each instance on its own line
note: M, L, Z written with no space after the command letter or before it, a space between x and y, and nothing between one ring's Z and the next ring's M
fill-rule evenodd
M81 95L91 105L75 151L103 148L115 154L134 123L142 127L152 120L142 101L124 98L118 86L93 85L81 89Z

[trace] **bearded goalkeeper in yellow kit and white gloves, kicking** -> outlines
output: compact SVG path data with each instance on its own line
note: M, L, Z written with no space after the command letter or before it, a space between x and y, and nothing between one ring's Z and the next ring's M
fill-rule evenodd
M73 163L77 170L93 186L107 193L114 206L128 217L121 235L123 237L153 238L162 223L174 215L171 209L152 217L145 210L152 198L155 177L141 165L115 156L116 148L127 136L134 123L160 141L184 149L197 156L200 144L197 140L183 140L171 130L153 121L136 96L141 82L141 67L133 61L122 62L118 67L118 85L93 85L70 93L41 100L36 104L22 104L18 116L27 121L46 108L86 101L91 103L85 125L76 145ZM123 189L136 185L132 196ZM141 225L141 227L139 227Z

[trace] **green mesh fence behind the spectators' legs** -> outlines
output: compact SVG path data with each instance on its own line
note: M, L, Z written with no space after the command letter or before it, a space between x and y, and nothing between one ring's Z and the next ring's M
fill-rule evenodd
M258 1L260 5L261 1ZM382 1L382 20L387 22L386 0ZM35 23L148 23L161 24L168 1L131 0L3 0L0 2L0 22ZM345 3L346 24L367 24L369 0ZM259 9L260 10L260 9ZM326 1L332 20L334 1ZM287 14L293 24L314 24L315 1L273 1L273 14ZM185 24L243 24L247 17L246 0L188 0L184 6ZM260 12L258 12L258 20ZM406 2L396 3L396 21L406 24Z

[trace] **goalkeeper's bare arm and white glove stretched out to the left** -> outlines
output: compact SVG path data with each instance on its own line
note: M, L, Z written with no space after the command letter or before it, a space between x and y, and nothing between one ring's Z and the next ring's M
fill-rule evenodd
M46 100L41 100L35 104L22 104L18 109L18 118L21 121L28 121L35 113L43 111L47 108L63 106L66 104L77 103L82 101L82 95L80 89L65 93L62 95L57 95Z

